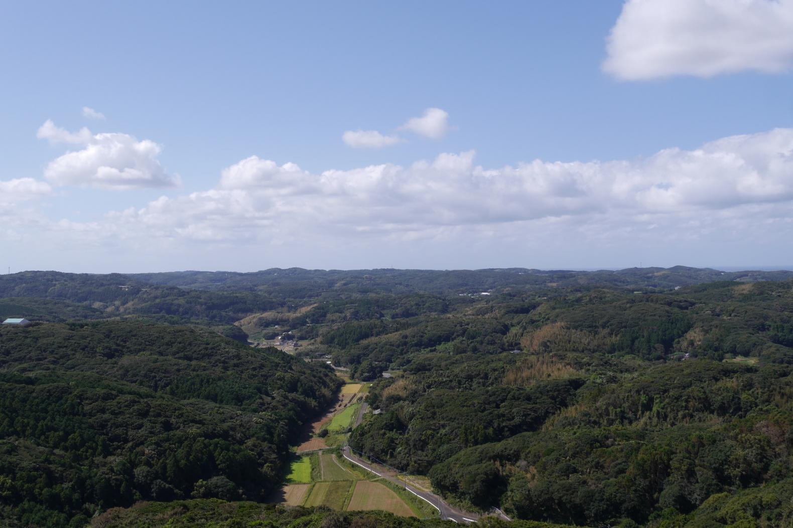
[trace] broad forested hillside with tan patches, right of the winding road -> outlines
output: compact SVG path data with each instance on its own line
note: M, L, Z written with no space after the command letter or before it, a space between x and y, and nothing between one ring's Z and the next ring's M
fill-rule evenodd
M393 373L351 446L451 500L583 526L793 526L793 281L379 325L324 337L354 372Z

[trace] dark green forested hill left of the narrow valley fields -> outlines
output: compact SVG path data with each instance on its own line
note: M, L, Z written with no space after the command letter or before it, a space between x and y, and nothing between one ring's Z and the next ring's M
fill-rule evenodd
M85 526L140 499L261 500L338 385L197 327L2 327L0 518Z

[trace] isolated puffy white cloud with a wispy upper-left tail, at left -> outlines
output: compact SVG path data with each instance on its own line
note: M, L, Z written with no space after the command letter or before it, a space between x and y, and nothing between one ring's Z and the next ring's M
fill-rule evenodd
M151 140L139 141L121 133L93 135L87 128L67 132L46 121L36 135L51 143L82 145L52 160L44 169L44 178L55 185L96 187L100 189L141 189L174 187L178 176L170 176L157 157L162 147Z

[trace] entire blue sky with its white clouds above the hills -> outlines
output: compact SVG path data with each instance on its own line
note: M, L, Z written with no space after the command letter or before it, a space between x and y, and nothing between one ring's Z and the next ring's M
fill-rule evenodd
M7 266L793 264L793 5L638 4L6 3Z

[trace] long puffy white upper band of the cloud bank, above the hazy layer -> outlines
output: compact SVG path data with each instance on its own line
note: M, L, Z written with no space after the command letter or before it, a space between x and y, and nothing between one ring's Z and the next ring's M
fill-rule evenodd
M252 156L224 169L217 189L163 197L114 218L132 231L201 241L416 239L560 219L614 231L672 222L701 233L717 220L749 225L747 216L789 216L791 174L791 128L632 161L534 160L494 169L478 166L473 151L320 174Z

